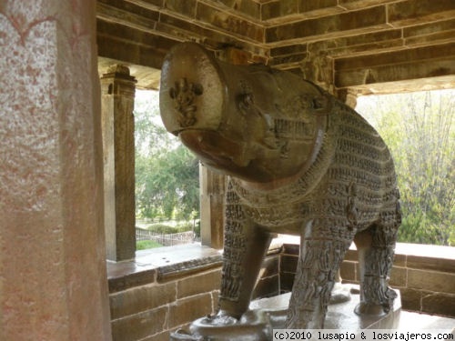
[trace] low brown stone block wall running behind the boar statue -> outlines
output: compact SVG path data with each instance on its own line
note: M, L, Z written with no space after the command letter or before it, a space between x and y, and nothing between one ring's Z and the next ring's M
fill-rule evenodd
M138 253L136 261L108 265L114 341L167 341L169 332L217 310L221 255L201 246L163 247ZM173 251L174 250L174 251ZM455 255L444 246L399 245L391 286L405 310L455 316ZM145 255L145 256L144 256ZM182 261L182 257L187 260ZM276 241L260 271L253 298L292 287L298 244ZM156 262L157 266L148 262ZM346 283L358 283L357 251L341 267Z

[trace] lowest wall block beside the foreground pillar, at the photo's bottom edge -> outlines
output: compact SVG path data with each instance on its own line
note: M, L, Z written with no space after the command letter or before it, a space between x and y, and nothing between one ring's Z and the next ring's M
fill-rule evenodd
M113 341L136 341L167 329L168 307L162 306L147 312L112 321Z

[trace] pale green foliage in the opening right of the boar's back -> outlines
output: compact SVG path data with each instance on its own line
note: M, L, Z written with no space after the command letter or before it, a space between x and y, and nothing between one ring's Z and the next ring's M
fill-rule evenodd
M356 108L389 145L403 222L399 241L455 245L453 91L379 95Z

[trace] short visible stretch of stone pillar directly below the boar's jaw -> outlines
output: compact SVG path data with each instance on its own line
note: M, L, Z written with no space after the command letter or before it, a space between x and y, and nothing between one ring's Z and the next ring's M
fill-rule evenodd
M226 176L200 165L199 186L202 245L223 248Z

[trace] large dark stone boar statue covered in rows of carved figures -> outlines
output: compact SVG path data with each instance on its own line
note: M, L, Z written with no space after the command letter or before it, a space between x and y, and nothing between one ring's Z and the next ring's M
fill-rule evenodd
M247 312L275 233L301 236L286 327L323 327L353 240L357 313L389 311L399 191L388 147L360 115L298 75L227 65L194 43L167 54L160 111L204 165L229 176L214 324Z

